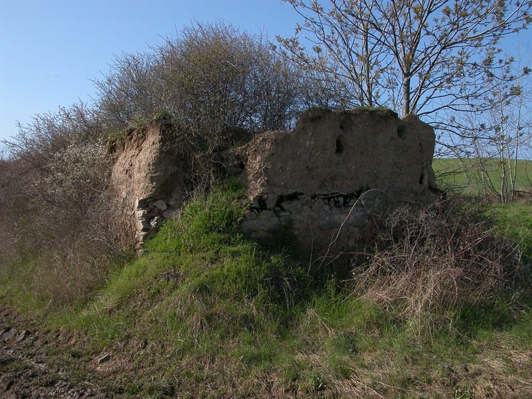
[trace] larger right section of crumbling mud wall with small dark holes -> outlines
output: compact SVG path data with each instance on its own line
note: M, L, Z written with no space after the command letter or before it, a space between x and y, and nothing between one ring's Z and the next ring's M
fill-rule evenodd
M311 109L292 132L265 132L231 153L253 205L241 231L264 239L283 224L303 247L334 256L371 235L397 203L434 201L432 127L389 109Z

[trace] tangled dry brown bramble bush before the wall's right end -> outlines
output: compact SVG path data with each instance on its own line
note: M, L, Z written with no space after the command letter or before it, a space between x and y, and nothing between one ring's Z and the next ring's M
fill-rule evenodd
M353 269L353 293L399 317L446 317L515 289L524 277L517 247L474 204L399 206L380 220L373 251Z

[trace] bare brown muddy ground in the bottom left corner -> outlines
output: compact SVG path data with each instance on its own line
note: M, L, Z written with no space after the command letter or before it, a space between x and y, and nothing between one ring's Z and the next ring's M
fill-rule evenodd
M75 344L0 305L0 399L116 397Z

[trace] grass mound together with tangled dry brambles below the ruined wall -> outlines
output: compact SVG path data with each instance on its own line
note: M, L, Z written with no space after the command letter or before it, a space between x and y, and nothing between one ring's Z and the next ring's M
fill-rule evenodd
M526 205L399 208L364 260L326 265L290 231L243 238L242 193L227 181L188 202L146 254L68 301L35 278L40 256L5 265L1 301L76 337L77 358L111 353L109 397L532 393Z

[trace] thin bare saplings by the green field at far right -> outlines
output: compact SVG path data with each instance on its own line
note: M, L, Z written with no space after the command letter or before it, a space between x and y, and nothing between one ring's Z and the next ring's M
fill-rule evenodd
M513 78L501 78L497 72ZM452 112L447 114L447 122L439 125L447 150L459 160L472 195L498 197L502 202L515 199L520 188L518 170L524 166L520 159L530 156L530 72L522 67L521 60L516 60L506 71L490 73L502 82L482 99L490 108L484 112ZM475 108L475 103L469 107Z

